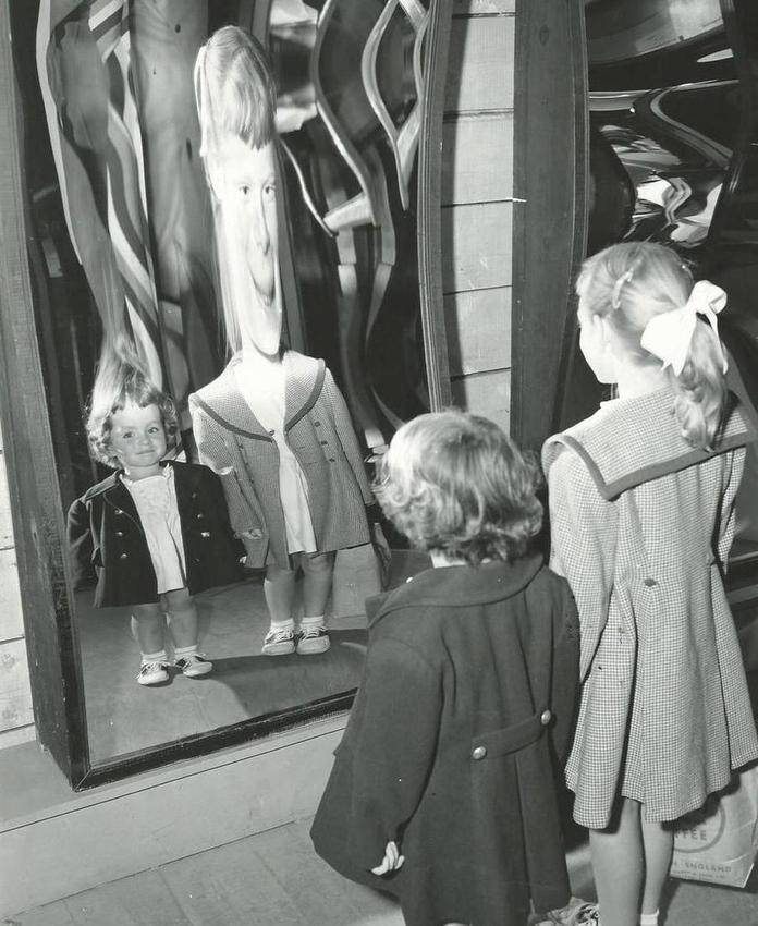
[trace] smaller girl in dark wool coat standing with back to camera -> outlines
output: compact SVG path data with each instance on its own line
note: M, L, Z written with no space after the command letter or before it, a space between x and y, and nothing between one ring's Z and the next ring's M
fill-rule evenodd
M578 621L527 553L536 472L486 418L421 415L377 497L433 568L368 602L363 684L311 829L409 926L523 926L565 905L554 759L574 715Z

